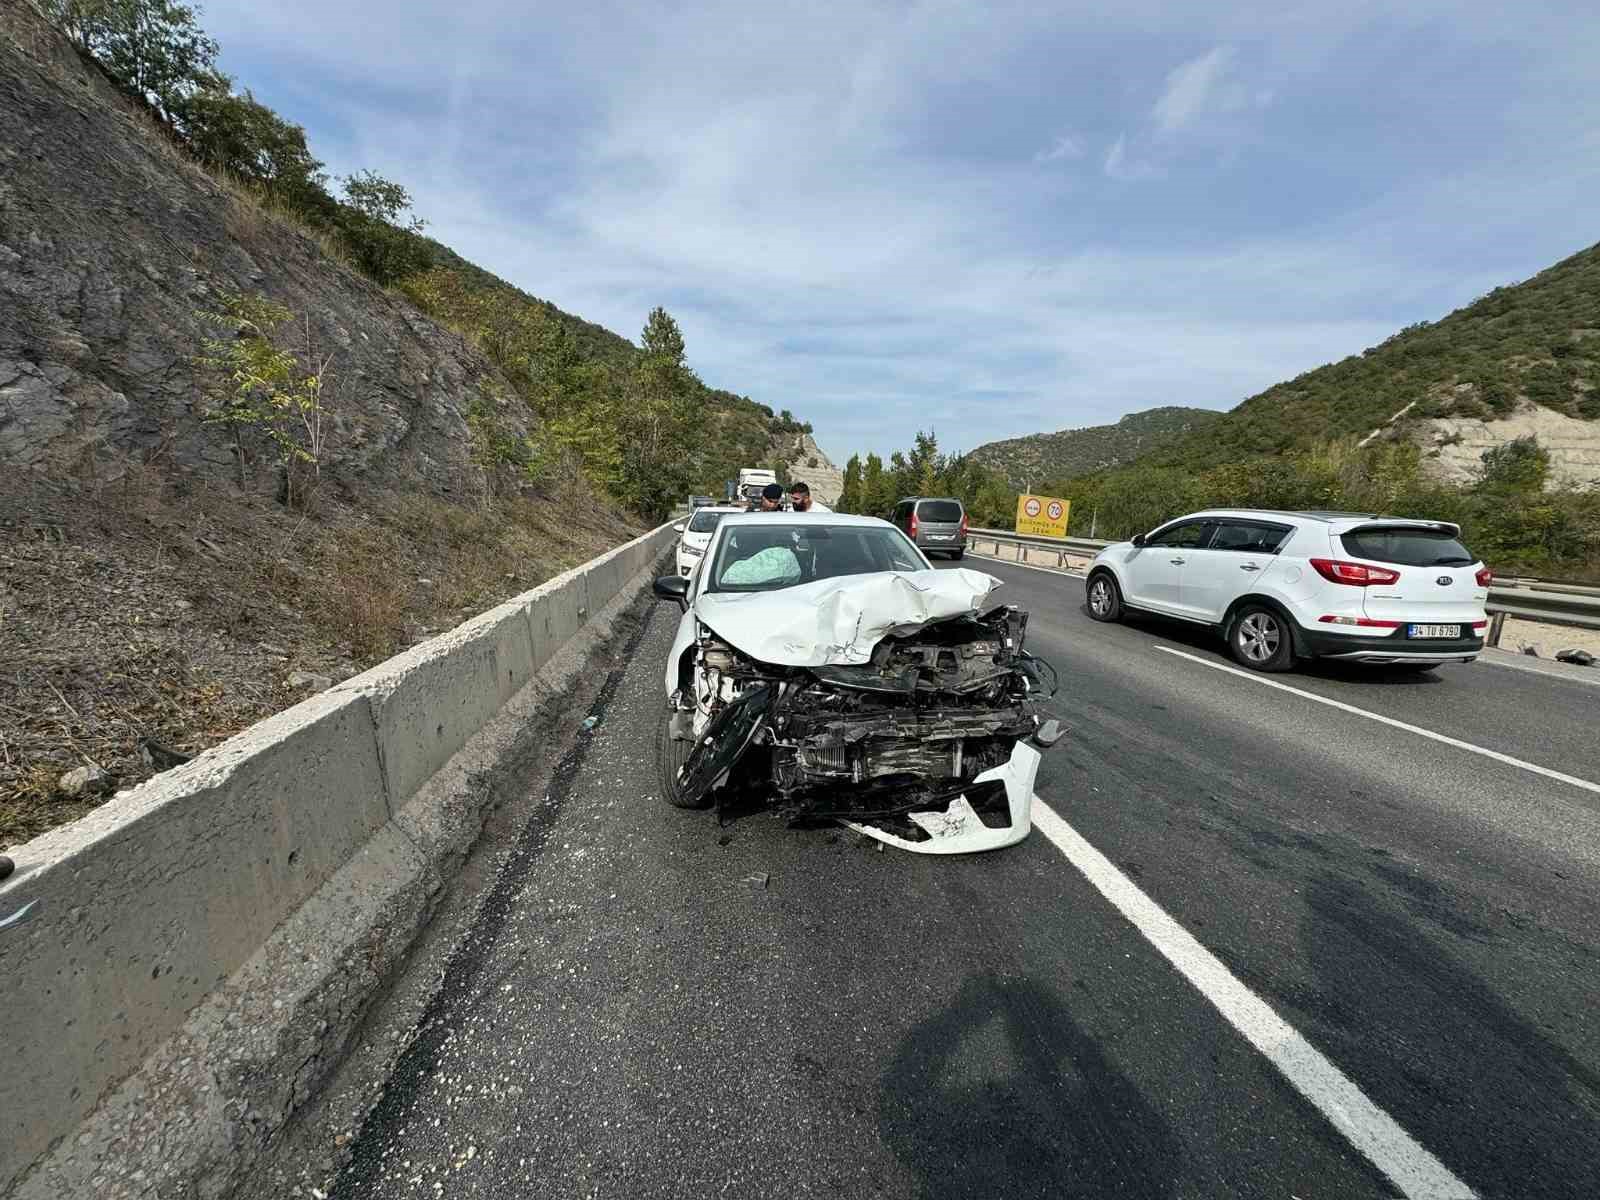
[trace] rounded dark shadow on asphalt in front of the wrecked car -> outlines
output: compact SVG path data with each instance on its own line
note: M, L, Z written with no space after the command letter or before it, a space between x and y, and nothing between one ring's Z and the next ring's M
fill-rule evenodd
M878 1093L883 1144L930 1200L1166 1197L1166 1120L1053 992L982 973L901 1042Z

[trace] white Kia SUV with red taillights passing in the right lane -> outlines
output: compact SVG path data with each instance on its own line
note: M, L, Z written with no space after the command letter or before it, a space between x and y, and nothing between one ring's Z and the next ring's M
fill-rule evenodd
M1211 626L1251 670L1299 658L1472 662L1491 576L1459 538L1446 522L1349 512L1194 512L1094 555L1090 616Z

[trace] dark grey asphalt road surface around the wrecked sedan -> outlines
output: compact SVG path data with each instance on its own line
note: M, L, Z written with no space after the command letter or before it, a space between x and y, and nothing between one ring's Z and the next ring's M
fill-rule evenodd
M654 606L330 1195L1600 1195L1600 688L1290 691L965 566L1061 672L1059 819L938 859L669 808Z

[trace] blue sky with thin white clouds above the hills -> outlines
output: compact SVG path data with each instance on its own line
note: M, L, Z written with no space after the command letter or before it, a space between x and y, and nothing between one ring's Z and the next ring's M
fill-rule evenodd
M254 0L240 86L837 461L1230 408L1600 240L1600 5Z

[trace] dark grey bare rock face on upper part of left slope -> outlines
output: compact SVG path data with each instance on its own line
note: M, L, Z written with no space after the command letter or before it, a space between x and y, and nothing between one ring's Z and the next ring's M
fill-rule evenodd
M216 331L195 314L262 293L333 355L325 478L469 486L462 413L490 363L192 165L22 0L0 0L0 462L234 472L200 421L192 357Z

